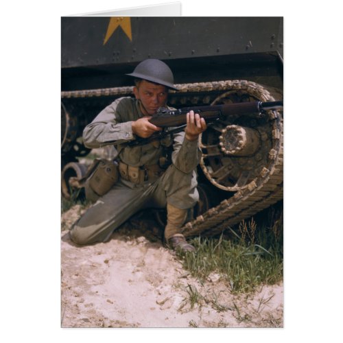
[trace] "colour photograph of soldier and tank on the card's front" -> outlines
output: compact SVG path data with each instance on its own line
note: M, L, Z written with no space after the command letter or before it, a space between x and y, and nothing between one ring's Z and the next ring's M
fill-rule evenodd
M60 24L60 327L283 328L283 16Z

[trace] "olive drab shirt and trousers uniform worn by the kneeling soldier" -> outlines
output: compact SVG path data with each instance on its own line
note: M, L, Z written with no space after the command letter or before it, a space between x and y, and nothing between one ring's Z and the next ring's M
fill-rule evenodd
M121 97L102 110L86 126L84 145L89 148L115 144L119 159L119 181L97 199L71 229L77 244L106 241L118 226L147 208L191 209L198 201L196 166L201 152L198 140L188 141L185 132L174 134L145 145L128 147L135 139L132 121L143 117L139 100ZM160 166L168 146L173 148L171 165ZM165 232L166 239L175 233Z

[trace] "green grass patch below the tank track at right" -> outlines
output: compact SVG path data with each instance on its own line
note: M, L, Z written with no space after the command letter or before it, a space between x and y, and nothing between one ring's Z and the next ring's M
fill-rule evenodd
M219 273L233 294L252 292L261 284L274 285L283 279L282 217L282 211L272 207L262 220L243 221L225 235L192 239L196 253L178 252L177 256L198 279Z

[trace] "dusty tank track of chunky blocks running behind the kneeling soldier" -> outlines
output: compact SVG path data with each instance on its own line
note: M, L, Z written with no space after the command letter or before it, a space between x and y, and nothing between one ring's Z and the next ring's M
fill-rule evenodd
M214 104L218 95L227 91L243 92L263 102L273 101L268 88L246 80L226 80L218 82L200 82L177 84L178 92L170 91L169 104L195 106L196 104ZM86 91L65 91L63 98L80 97L119 97L132 95L133 87L104 88ZM273 94L274 95L274 94ZM277 97L277 96L276 96ZM189 105L190 104L190 105ZM265 165L259 168L258 174L243 187L228 193L230 198L198 215L195 220L183 227L186 237L195 235L215 235L229 226L233 226L263 209L283 199L283 116L279 111L268 112L270 123L270 149ZM202 145L200 137L200 147ZM202 159L202 165L204 160ZM206 170L204 171L206 173ZM211 176L205 175L211 182ZM213 183L213 182L212 182ZM230 191L230 187L222 187Z

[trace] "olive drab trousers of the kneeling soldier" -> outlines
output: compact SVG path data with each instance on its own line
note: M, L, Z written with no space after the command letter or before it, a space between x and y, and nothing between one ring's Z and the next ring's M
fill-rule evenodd
M156 181L134 185L119 181L91 206L71 228L71 239L80 245L107 241L113 230L134 213L147 208L191 209L199 199L196 171L185 174L170 165Z

